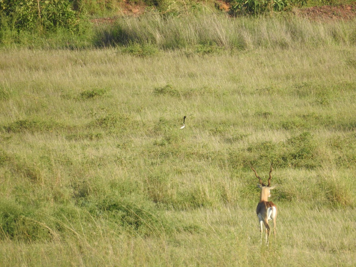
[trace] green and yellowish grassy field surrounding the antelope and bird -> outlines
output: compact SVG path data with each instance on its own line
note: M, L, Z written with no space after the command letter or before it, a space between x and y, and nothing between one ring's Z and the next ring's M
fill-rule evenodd
M355 23L156 19L1 49L2 265L354 266Z

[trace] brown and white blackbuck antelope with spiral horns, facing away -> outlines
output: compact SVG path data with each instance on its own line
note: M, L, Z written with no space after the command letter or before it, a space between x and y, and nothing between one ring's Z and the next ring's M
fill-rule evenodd
M252 171L255 172L256 177L260 181L260 184L257 184L257 187L261 189L260 203L257 205L256 213L258 216L258 221L260 222L261 230L261 244L262 244L262 232L263 224L266 227L266 242L269 243L269 235L271 235L271 228L269 227L268 222L273 220L273 234L274 239L276 239L276 218L277 218L277 206L274 205L272 201L268 201L268 198L271 197L270 190L274 189L277 185L271 186L272 179L272 164L271 171L269 171L268 185L266 186L262 183L260 176L258 176L256 170L252 168Z

